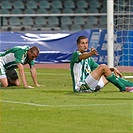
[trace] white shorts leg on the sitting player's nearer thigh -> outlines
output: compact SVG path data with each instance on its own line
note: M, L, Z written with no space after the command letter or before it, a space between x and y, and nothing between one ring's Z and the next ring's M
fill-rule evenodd
M87 78L85 79L85 82L88 84L88 86L91 88L91 89L95 89L95 87L98 85L98 82L99 80L96 80L92 77L91 74L89 74L87 76Z

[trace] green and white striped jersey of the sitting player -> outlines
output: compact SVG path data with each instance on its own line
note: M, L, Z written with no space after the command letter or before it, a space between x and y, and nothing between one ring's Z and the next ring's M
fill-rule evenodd
M98 64L90 57L85 60L79 60L80 51L72 54L70 61L70 70L73 82L73 91L80 90L80 86L84 83L86 77L98 67Z

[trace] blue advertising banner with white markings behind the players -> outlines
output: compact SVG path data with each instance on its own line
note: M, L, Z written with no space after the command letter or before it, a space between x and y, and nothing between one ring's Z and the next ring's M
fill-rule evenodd
M119 38L122 34L128 34L124 38ZM89 50L94 47L98 50L99 56L93 56L93 59L99 63L107 64L107 30L94 29L82 30L78 32L1 32L0 34L0 52L4 52L13 46L37 46L40 49L40 55L36 59L37 63L61 63L70 62L72 53L77 50L76 40L79 36L86 36L89 39ZM114 39L114 57L115 65L133 66L133 31L118 32ZM127 51L127 49L130 49ZM123 54L124 53L124 54ZM123 61L124 59L124 61ZM130 60L130 63L127 61Z

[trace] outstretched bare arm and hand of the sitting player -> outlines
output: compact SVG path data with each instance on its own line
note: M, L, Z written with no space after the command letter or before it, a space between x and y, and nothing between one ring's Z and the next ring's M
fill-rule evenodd
M83 54L81 54L79 56L79 60L87 59L87 58L89 58L89 57L91 57L93 55L99 55L97 50L94 49L94 48L92 48L90 52L84 52Z

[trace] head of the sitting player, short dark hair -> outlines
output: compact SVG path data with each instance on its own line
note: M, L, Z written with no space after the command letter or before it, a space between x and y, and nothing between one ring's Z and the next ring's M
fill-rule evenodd
M79 36L77 46L81 53L86 52L88 50L88 38L86 36Z

